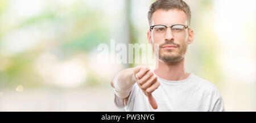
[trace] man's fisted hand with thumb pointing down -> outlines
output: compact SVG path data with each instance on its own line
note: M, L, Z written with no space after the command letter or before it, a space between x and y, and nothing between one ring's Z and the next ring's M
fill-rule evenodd
M152 108L157 109L158 104L155 98L152 96L152 92L155 91L159 86L160 82L158 78L147 66L137 66L133 69L134 77L137 79L137 83L144 94L148 97Z

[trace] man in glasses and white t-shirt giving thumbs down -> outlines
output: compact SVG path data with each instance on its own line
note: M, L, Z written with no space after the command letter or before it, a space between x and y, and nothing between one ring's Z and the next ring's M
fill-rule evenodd
M182 0L152 3L147 39L157 66L155 70L137 66L115 75L111 85L118 108L126 111L225 111L217 87L185 71L185 52L194 37L189 28L190 20L191 11Z

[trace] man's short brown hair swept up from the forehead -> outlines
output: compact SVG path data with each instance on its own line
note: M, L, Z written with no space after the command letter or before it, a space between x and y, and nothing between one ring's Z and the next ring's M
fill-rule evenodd
M188 24L190 24L191 20L191 11L187 3L183 0L157 0L150 6L150 10L148 11L148 22L151 25L152 23L152 15L158 9L170 10L170 9L179 9L183 10L187 15Z

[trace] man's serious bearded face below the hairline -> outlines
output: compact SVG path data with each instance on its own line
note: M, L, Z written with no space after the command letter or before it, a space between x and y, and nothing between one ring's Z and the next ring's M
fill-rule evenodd
M193 41L192 29L187 28L183 32L175 33L170 26L176 24L188 26L187 15L184 11L159 9L152 15L151 26L164 25L168 27L166 33L161 36L157 34L156 29L148 31L148 43L152 44L155 55L163 62L177 62L182 60L187 51L188 44L191 44ZM159 54L156 50L159 51Z

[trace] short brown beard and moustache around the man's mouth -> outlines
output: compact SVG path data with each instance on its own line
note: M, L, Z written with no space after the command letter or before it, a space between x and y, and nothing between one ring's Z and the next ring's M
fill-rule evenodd
M177 46L177 48L163 49L163 45L167 44L175 45ZM185 43L185 41L182 44L176 44L174 43L174 41L166 41L166 43L156 45L154 49L156 49L155 51L158 51L154 51L156 58L163 62L175 63L179 62L180 60L183 60L185 53L187 51L187 44Z

